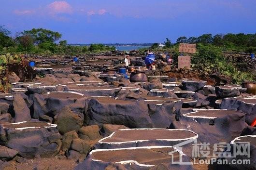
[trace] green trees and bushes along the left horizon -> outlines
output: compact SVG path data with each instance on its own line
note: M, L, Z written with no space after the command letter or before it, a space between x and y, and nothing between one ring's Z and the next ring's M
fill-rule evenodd
M62 35L58 32L38 28L24 30L14 39L11 32L0 26L0 53L30 53L30 54L84 54L90 52L104 52L115 50L113 46L91 44L87 46L71 46L67 40L60 40ZM58 42L58 43L57 43Z

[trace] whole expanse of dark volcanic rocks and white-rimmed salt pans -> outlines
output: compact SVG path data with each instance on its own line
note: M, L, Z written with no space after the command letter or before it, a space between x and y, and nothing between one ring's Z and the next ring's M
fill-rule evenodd
M11 70L10 93L0 94L0 169L245 170L173 166L166 154L186 137L215 144L244 135L252 135L244 140L252 142L255 161L254 94L228 85L222 75L177 70L160 61L156 71L128 73L126 79L116 71L123 58L80 57L74 63L70 57L38 57L29 74ZM131 57L131 63L145 69L140 57ZM191 161L192 145L183 151Z

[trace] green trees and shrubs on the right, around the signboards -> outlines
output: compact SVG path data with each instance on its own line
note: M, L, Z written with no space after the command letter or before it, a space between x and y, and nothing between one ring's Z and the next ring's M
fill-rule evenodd
M168 43L167 43L168 42ZM253 80L255 76L248 71L242 71L240 63L231 63L224 56L225 52L256 53L256 34L227 34L215 35L203 34L199 37L180 37L175 44L170 44L167 39L164 48L156 44L150 48L155 52L169 52L172 54L175 64L179 56L179 43L196 43L197 52L192 54L191 65L194 69L202 70L205 75L219 72L232 78L232 83L238 84L243 80ZM244 63L241 63L243 65ZM245 64L246 65L246 64Z

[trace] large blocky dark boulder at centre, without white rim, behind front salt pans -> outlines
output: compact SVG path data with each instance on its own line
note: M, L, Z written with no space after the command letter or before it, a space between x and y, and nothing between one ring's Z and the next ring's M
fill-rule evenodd
M90 99L87 116L85 121L89 125L107 123L121 124L129 128L152 127L148 107L143 101L114 101L111 98Z

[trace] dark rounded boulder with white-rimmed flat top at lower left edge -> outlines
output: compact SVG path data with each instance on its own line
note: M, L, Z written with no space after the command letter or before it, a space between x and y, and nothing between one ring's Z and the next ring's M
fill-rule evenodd
M45 128L47 127L47 128ZM61 136L56 125L42 122L25 122L20 124L0 124L0 131L7 137L5 146L15 149L26 158L55 156L61 147Z

